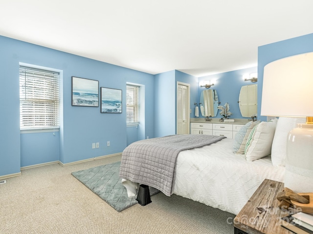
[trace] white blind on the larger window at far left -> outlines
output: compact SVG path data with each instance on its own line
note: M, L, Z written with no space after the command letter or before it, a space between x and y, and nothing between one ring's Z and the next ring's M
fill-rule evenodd
M59 128L59 73L20 66L20 127Z

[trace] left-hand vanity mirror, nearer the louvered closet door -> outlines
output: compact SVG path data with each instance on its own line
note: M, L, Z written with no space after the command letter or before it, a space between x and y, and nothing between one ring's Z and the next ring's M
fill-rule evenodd
M215 117L218 112L219 98L217 91L214 89L206 89L200 95L200 110L203 117Z

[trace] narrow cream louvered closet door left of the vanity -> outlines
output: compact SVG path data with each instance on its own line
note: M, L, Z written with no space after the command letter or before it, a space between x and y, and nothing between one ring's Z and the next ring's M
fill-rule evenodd
M187 122L187 87L184 85L178 85L177 88L177 134L188 133Z

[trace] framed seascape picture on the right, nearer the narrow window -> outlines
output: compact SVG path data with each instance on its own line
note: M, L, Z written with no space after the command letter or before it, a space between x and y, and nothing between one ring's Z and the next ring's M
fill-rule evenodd
M122 90L100 88L101 113L122 113Z

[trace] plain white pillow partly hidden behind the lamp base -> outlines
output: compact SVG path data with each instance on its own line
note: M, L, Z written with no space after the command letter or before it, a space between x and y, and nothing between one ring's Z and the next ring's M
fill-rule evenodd
M297 123L305 123L305 121L305 118L279 117L271 150L273 166L285 166L288 134L297 127Z

